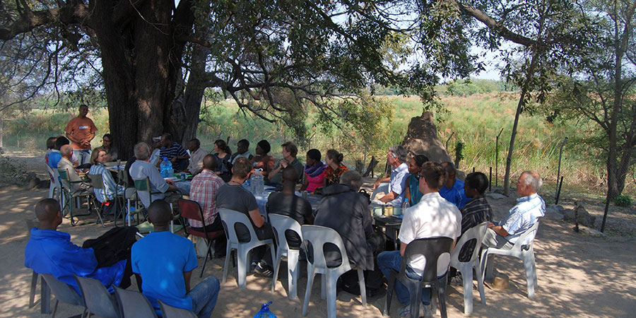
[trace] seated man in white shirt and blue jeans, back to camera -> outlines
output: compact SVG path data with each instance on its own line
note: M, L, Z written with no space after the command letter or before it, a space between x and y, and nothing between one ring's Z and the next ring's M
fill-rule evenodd
M406 251L408 243L413 240L426 237L451 237L456 240L461 232L461 213L457 206L449 203L440 196L440 188L444 181L444 168L438 163L427 162L420 170L420 192L423 196L420 202L403 211L404 218L400 227L400 250L382 252L377 257L377 265L389 278L391 269L400 270L402 257ZM418 279L422 276L425 261L423 256L418 255L408 260L406 266L406 276ZM443 278L446 274L449 259L446 259L446 266L437 268L437 277ZM438 262L439 264L439 262ZM408 289L396 281L395 293L399 302L404 305L400 312L401 317L406 317L411 312L411 296ZM430 288L422 291L422 302L420 306L426 317L430 317Z

